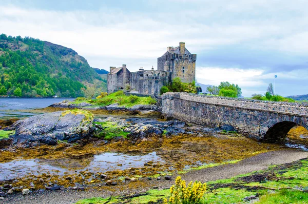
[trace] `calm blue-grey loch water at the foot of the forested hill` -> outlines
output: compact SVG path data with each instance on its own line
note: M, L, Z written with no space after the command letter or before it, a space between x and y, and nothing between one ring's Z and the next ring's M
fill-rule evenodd
M73 98L0 98L0 118L35 115L31 110L45 108L65 99Z

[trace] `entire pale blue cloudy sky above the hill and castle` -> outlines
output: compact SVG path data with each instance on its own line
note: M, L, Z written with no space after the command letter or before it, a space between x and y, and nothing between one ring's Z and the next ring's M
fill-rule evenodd
M197 54L198 83L242 95L308 94L306 0L0 0L0 33L72 48L91 67L157 68L168 46ZM274 76L277 75L277 78Z

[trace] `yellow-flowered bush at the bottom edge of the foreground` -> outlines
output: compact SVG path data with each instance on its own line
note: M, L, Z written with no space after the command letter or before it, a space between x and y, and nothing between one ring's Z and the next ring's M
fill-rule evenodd
M186 187L185 180L180 176L176 178L176 185L170 187L169 200L165 198L164 204L188 204L202 203L202 197L206 191L206 183L195 181L188 183Z

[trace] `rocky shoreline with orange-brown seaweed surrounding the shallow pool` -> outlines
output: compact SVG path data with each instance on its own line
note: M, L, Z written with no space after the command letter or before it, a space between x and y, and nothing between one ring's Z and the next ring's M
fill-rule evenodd
M277 145L260 144L242 137L232 126L207 128L174 119L160 119L157 115L160 108L155 105L124 108L119 107L119 104L113 104L92 107L87 103L77 106L67 102L51 105L49 110L57 110L55 112L18 120L4 128L15 131L15 134L0 140L0 151L3 155L0 162L21 157L59 160L101 152L156 151L165 163L148 160L141 168L121 171L99 173L85 170L64 175L44 173L38 176L0 180L0 199L12 203L14 197L18 197L16 203L24 203L23 195L28 195L29 198L26 199L33 198L35 203L36 198L47 195L53 198L46 203L54 203L57 200L56 195L63 194L71 196L70 199L75 202L81 195L85 198L119 194L114 191L127 195L136 190L144 192L149 189L169 188L170 180L174 180L175 176L183 172L187 166L241 160L257 153L279 150ZM125 119L100 118L93 115L93 112L101 110L107 111L106 113L129 114ZM132 113L154 114L155 118L129 117ZM245 151L247 154L243 153ZM216 175L214 172L211 174ZM202 180L201 173L184 171L182 175L187 180ZM53 191L60 193L51 193ZM105 193L98 194L100 191ZM68 203L68 200L63 202L57 200L58 202Z

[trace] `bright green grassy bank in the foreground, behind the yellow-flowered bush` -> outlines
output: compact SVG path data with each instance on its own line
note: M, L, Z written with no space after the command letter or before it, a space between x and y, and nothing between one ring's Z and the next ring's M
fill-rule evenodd
M201 203L248 203L250 199L257 199L255 203L308 203L307 175L308 159L302 159L263 171L208 182ZM77 203L159 203L169 194L169 189L150 190L137 196L89 198Z

